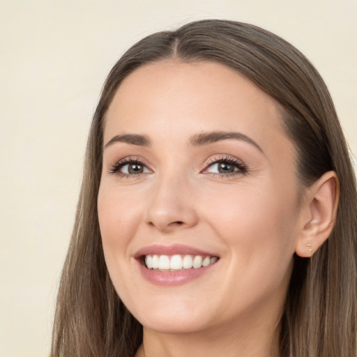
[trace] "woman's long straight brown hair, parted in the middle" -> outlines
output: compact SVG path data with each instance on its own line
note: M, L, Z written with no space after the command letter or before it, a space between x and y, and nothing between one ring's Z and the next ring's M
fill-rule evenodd
M250 24L202 20L140 40L102 89L86 148L73 236L56 303L52 357L132 357L142 326L121 302L105 266L97 195L105 114L125 77L163 59L215 61L234 68L280 103L296 166L307 187L329 170L340 179L331 236L311 259L295 257L281 321L283 357L356 357L357 197L349 151L328 89L295 47Z

